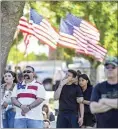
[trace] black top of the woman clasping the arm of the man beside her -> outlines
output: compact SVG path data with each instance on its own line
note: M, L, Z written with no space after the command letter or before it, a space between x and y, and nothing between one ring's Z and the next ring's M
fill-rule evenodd
M92 86L88 86L87 89L83 92L83 96L84 96L84 99L85 99L85 100L90 101L90 99L91 99L91 94L92 94L92 89L93 89ZM90 107L89 107L89 105L84 104L84 112L85 112L85 113L91 113L91 112L90 112Z

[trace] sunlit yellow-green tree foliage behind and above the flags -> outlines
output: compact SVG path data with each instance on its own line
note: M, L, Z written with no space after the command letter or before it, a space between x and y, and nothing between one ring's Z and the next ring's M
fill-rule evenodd
M64 18L67 13L72 13L77 17L81 17L91 22L101 34L100 44L108 50L108 55L117 54L117 2L80 2L80 1L29 1L29 5L50 21L59 31L60 19ZM28 4L26 8L29 8ZM67 48L57 48L57 59L72 61L75 51ZM11 54L11 53L10 53ZM21 54L22 55L22 54ZM79 54L78 54L79 55ZM83 56L94 62L90 56ZM11 55L9 59L11 58ZM14 58L14 56L12 57ZM46 59L47 57L34 57L28 59ZM24 60L23 55L21 59ZM19 59L20 60L20 59Z

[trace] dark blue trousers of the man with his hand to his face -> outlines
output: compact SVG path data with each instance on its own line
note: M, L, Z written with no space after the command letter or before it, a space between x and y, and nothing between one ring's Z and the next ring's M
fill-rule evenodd
M72 112L59 112L57 128L79 128L78 115Z

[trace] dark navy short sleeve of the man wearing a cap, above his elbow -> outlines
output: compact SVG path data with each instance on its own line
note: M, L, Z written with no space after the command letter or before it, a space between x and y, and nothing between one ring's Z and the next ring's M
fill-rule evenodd
M98 102L98 100L101 98L100 95L100 90L99 90L99 84L96 85L93 90L92 90L92 94L91 94L91 101L95 101Z

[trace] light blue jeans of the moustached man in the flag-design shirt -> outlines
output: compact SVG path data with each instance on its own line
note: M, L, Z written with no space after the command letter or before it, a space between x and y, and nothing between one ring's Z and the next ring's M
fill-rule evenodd
M14 128L43 128L43 120L32 120L28 118L15 119Z

